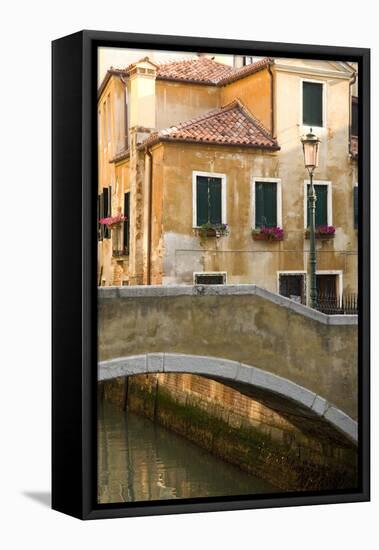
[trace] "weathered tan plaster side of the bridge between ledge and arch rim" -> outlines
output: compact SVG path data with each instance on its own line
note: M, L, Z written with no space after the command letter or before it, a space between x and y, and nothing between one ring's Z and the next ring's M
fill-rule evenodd
M152 352L231 359L295 382L357 417L356 325L324 324L281 297L211 290L100 299L99 361Z

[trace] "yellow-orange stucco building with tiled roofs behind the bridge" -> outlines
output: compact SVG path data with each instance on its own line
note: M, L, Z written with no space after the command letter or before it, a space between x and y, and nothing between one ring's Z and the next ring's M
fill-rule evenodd
M343 62L199 56L109 69L98 214L127 221L99 224L99 285L252 283L306 303L300 139L312 127L318 289L356 293L356 96L356 68Z

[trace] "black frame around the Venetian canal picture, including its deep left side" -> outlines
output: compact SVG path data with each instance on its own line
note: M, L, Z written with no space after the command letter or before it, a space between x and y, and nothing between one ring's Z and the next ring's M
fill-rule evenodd
M357 491L96 504L96 193L99 46L350 60L359 64L359 471ZM81 519L370 499L370 50L81 31L52 43L52 507ZM72 238L74 236L74 238Z

